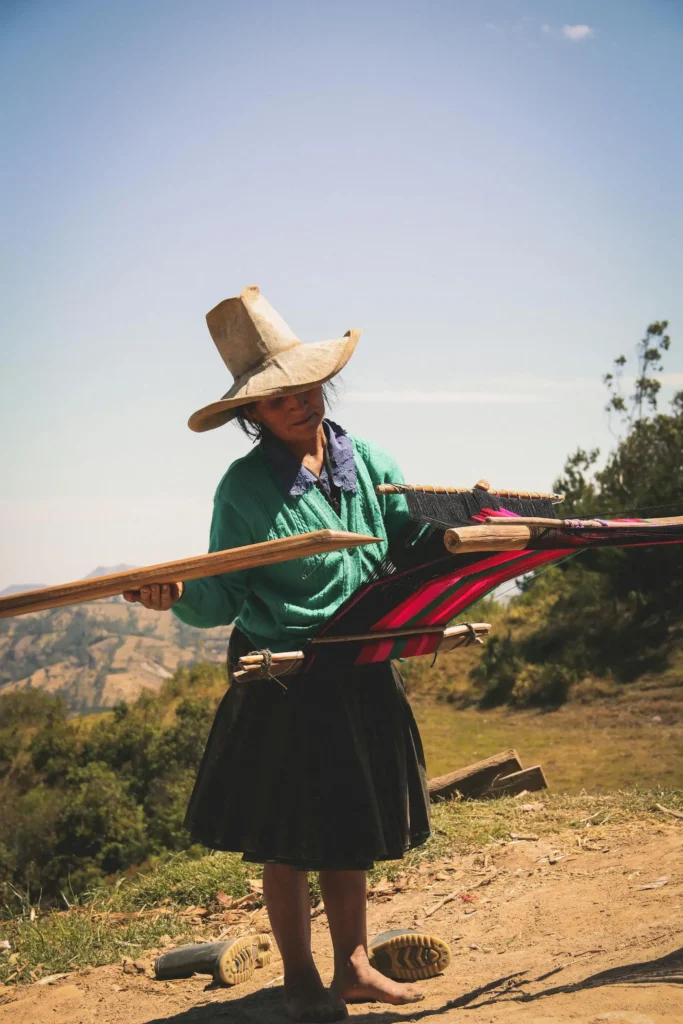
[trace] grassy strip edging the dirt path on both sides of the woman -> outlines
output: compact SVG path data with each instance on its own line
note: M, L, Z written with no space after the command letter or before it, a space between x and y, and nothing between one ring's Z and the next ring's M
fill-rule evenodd
M456 853L480 849L492 840L505 840L513 831L538 836L556 835L566 829L583 830L591 817L591 835L598 839L604 829L661 823L654 804L683 809L683 792L671 790L629 790L611 794L535 795L543 805L532 817L521 809L523 801L505 798L489 802L438 804L433 808L433 836L402 861L378 864L371 883L395 878L424 862L439 861ZM607 821L604 826L603 821ZM671 823L673 819L669 819ZM222 891L240 897L249 891L250 879L260 871L254 864L245 865L238 854L214 853L197 857L174 856L163 863L124 878L111 888L86 894L68 911L41 913L22 901L8 907L11 912L0 921L0 941L11 948L0 950L0 982L19 984L49 974L69 972L87 966L135 958L144 949L154 948L163 935L178 944L202 933L215 937L219 923L198 926L182 918L184 907L204 906L219 909L216 895ZM311 901L317 902L317 886L311 879ZM140 918L123 921L102 913L156 910ZM32 916L34 920L32 921Z

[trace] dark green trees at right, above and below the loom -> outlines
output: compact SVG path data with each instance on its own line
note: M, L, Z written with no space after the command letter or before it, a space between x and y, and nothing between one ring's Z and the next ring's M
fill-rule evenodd
M637 347L632 391L625 356L607 374L607 411L623 436L597 468L597 449L569 456L554 489L568 516L683 514L683 392L658 410L667 321ZM489 641L473 678L483 702L552 703L587 675L637 678L667 663L683 622L683 545L587 548L539 573L514 598L507 637Z

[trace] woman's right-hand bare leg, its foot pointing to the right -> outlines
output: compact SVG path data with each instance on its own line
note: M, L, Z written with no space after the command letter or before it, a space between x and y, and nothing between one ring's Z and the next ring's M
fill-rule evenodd
M343 999L379 999L394 1006L423 998L415 985L385 978L370 966L366 872L321 871L321 891L335 950L333 990Z

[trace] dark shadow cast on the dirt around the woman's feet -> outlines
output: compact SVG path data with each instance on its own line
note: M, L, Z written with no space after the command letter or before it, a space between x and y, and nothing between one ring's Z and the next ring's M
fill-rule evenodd
M625 967L600 971L598 974L589 975L583 981L575 981L567 985L552 985L537 992L525 990L527 986L541 984L560 974L563 970L563 967L558 967L538 978L525 977L528 972L507 975L472 989L470 992L464 992L456 999L449 999L441 1007L419 1010L414 1004L405 1010L387 1008L383 1013L373 1012L354 1015L350 1018L350 1024L401 1024L401 1022L408 1021L426 1021L430 1017L437 1017L449 1010L476 1010L480 1007L502 1002L533 1002L537 999L546 998L548 995L581 992L588 988L600 988L604 985L651 985L656 982L683 985L683 947L668 953L666 956L659 956L658 959L627 964ZM250 995L245 995L240 999L230 999L227 1002L195 1007L181 1014L174 1014L172 1017L156 1017L154 1020L147 1021L147 1024L224 1024L226 1021L230 1021L230 1024L254 1024L255 1021L258 1021L259 1024L279 1024L287 1019L283 1009L283 989L281 986L252 992Z

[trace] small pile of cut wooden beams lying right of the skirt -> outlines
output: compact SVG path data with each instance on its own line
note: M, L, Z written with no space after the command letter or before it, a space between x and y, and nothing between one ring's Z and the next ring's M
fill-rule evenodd
M516 751L503 751L485 761L477 761L447 775L429 780L429 799L490 800L494 797L514 797L520 793L547 790L548 783L541 765L522 768Z

